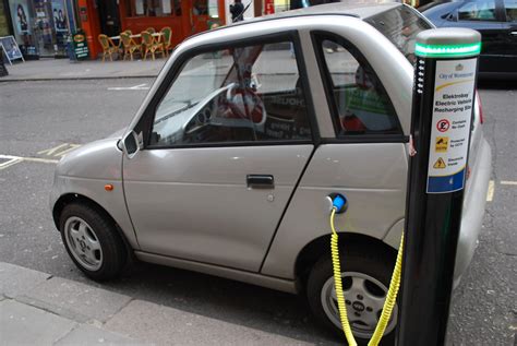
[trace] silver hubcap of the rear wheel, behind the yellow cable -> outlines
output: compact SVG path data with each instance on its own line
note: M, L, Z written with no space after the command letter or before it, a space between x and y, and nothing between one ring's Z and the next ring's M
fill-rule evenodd
M341 273L341 279L347 315L353 335L370 338L381 318L387 287L372 276L357 272ZM334 276L323 285L321 299L327 318L341 329ZM397 313L398 307L395 306L384 334L388 334L395 329Z

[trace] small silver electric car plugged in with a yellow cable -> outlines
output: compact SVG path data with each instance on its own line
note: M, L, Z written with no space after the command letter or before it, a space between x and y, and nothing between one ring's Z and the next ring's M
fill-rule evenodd
M413 41L431 27L400 3L335 3L187 39L128 129L58 164L51 208L71 259L98 281L134 254L303 293L339 330L326 198L341 193L345 295L369 338L404 225ZM456 283L491 172L478 107Z

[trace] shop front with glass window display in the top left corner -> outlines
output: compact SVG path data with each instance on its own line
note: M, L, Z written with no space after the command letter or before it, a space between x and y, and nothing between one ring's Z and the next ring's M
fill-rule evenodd
M65 0L7 0L12 33L26 59L65 57L70 34ZM73 13L72 13L73 16Z

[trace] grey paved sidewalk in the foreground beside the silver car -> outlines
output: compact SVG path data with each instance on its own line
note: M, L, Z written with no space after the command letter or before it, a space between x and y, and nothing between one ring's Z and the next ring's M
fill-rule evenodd
M308 345L0 262L0 345Z

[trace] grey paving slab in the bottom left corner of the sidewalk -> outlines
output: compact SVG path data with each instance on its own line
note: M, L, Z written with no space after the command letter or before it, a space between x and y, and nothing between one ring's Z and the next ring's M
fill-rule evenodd
M76 323L10 299L0 301L0 345L52 345Z

